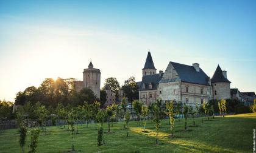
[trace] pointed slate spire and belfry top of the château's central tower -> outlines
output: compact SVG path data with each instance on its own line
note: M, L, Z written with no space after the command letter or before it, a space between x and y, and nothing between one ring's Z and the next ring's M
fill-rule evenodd
M142 69L142 76L144 76L144 75L154 75L155 73L157 73L157 69L155 69L151 53L148 52L146 63L144 65L144 68Z

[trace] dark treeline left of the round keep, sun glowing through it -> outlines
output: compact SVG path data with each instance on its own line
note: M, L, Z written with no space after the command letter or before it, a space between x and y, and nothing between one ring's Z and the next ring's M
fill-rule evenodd
M89 88L84 88L80 92L74 90L74 78L46 78L40 87L30 86L27 87L23 92L18 92L15 98L15 105L24 105L30 102L33 106L38 101L44 106L57 107L60 103L63 106L70 104L71 106L79 106L84 104L84 101L93 103L94 101L100 101L104 104L103 100L99 100L94 95L93 91Z

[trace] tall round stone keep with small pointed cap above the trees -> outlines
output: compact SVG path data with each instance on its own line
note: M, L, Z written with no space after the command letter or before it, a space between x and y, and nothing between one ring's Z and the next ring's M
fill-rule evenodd
M88 69L84 69L83 73L84 87L90 87L97 98L99 98L101 92L101 70L93 68L93 63L90 62Z

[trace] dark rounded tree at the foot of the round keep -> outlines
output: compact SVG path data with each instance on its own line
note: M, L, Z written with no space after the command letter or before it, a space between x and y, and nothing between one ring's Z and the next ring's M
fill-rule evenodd
M84 101L87 101L88 104L93 104L97 98L93 90L91 90L88 87L85 87L84 89L80 90L79 97L80 97L81 104L84 103Z

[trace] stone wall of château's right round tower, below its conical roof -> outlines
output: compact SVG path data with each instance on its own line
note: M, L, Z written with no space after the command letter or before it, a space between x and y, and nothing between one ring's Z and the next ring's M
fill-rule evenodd
M230 98L230 83L213 83L213 97L216 100ZM215 95L216 90L216 95Z

